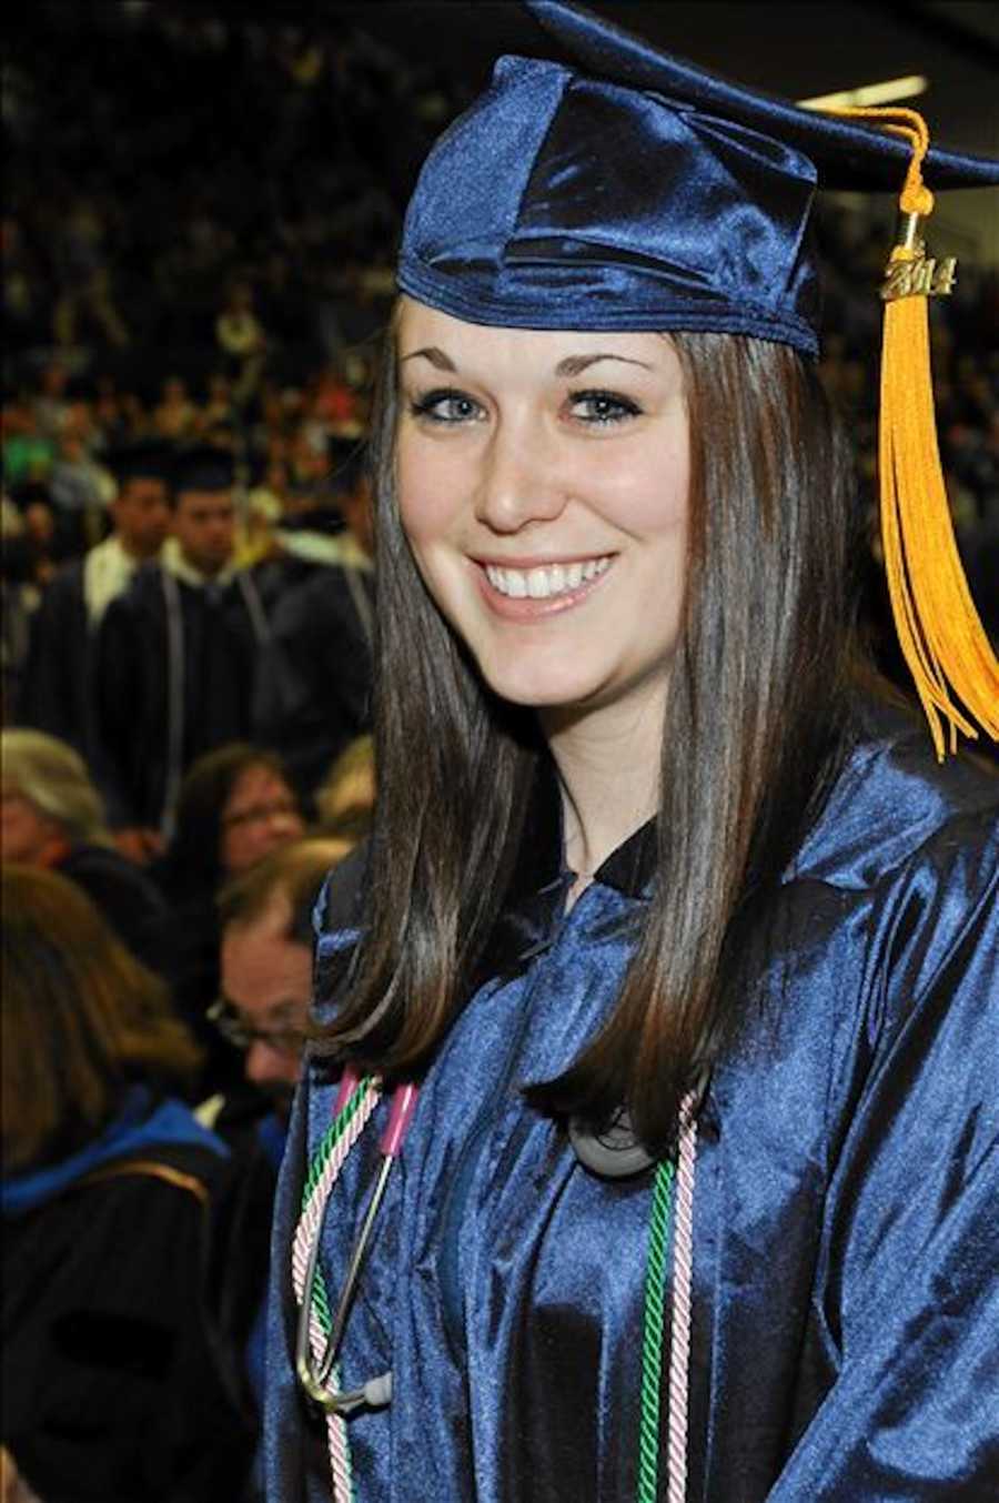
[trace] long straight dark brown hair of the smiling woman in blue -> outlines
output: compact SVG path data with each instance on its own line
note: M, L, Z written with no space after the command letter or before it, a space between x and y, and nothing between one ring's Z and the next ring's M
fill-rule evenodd
M738 1013L736 935L765 917L835 767L852 655L852 470L814 370L760 340L672 338L693 467L658 876L608 1022L530 1093L598 1124L626 1105L656 1151ZM382 776L365 930L326 1039L412 1075L463 1006L496 918L538 733L482 684L416 571L395 504L391 341L376 410Z

